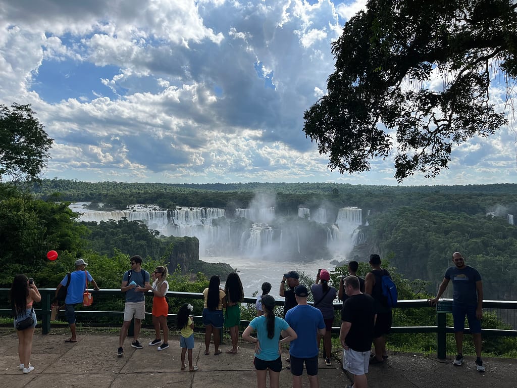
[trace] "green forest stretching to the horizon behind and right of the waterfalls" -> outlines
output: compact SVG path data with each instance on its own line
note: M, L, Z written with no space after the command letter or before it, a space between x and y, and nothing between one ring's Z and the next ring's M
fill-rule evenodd
M115 208L154 203L162 207L220 207L231 215L248 207L257 193L275 197L277 215L296 215L299 206L363 209L367 243L354 254L364 261L372 250L389 257L409 279L430 282L435 292L452 252L477 267L487 299L517 299L517 228L507 214L517 216L517 185L366 186L332 183L144 184L86 183L43 180L33 188L42 198L102 202ZM493 213L492 215L487 215ZM368 215L369 214L369 215ZM367 216L368 215L368 216ZM517 218L516 218L517 219ZM153 248L150 247L152 250Z

